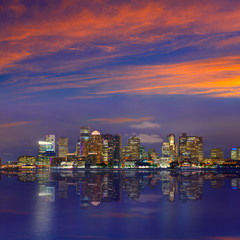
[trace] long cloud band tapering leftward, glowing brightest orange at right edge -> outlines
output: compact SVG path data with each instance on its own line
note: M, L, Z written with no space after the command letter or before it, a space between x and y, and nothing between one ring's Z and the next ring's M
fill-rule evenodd
M171 64L95 68L84 74L12 79L21 93L85 89L66 99L106 98L115 94L240 97L240 57L228 56Z

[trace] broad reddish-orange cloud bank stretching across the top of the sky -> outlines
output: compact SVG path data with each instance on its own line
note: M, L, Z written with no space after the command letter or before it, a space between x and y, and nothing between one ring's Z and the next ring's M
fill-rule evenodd
M110 55L131 45L152 42L169 41L174 43L174 48L206 46L206 42L192 39L205 35L214 40L215 46L216 41L220 41L217 34L221 34L222 40L224 36L228 38L227 33L240 29L240 3L232 1L230 7L228 0L191 4L189 1L179 4L177 0L111 4L65 0L49 1L45 7L37 3L27 6L5 1L1 9L6 21L1 25L0 69L34 56L70 49L84 51L93 46L101 47L102 54ZM191 37L178 46L179 36ZM211 40L207 43L212 44ZM132 51L131 47L128 51Z

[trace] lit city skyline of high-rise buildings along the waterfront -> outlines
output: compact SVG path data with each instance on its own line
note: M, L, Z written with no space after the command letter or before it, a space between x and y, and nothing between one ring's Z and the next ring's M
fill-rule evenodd
M239 146L232 146L227 153L224 153L220 147L213 147L210 149L210 154L206 154L203 137L189 136L187 133L182 133L178 137L174 133L168 134L157 149L146 148L139 136L129 135L127 142L123 143L120 134L100 133L98 130L91 130L89 126L80 127L79 136L80 138L75 143L75 149L70 148L71 151L68 144L69 137L61 136L56 138L55 134L47 134L45 140L38 141L38 151L35 149L35 153L32 155L26 153L19 155L17 161L26 159L26 157L32 159L35 156L37 158L43 157L45 160L47 157L47 161L53 157L59 158L58 161L63 162L86 161L86 159L92 162L92 154L94 156L96 154L98 160L96 161L94 157L94 162L96 161L97 164L106 163L107 165L115 160L120 164L120 162L124 163L128 160L142 162L151 159L162 159L162 161L169 163L190 159L192 163L201 163L208 159L239 160L240 156ZM7 159L2 160L3 163L8 161ZM11 160L11 162L15 161L16 159ZM91 165L94 165L94 162Z

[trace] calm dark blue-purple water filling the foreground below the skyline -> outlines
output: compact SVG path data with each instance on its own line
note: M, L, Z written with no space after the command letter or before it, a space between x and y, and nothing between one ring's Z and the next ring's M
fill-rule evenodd
M240 239L240 172L2 173L1 239Z

